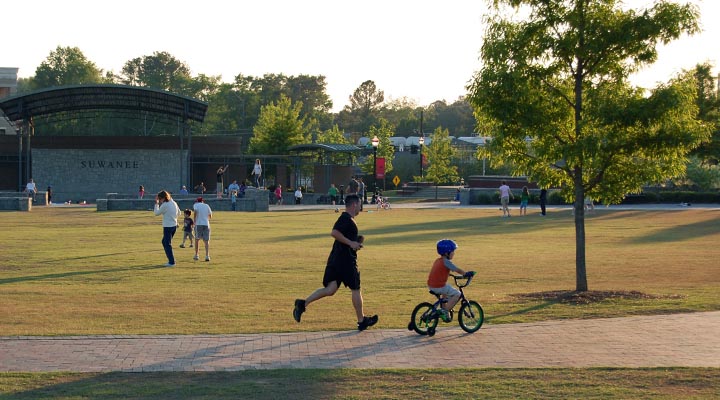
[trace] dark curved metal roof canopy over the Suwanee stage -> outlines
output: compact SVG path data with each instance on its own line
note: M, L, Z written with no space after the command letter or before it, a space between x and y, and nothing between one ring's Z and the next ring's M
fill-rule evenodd
M203 122L207 103L162 90L125 85L58 86L0 100L11 121L79 110L137 110Z

